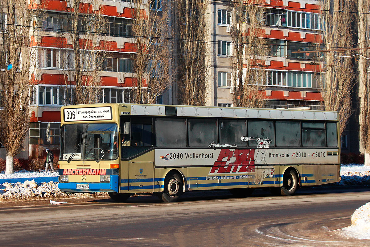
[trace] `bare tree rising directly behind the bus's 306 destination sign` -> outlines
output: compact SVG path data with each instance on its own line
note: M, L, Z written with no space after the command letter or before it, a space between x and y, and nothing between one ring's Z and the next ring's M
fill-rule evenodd
M100 47L101 37L107 30L105 17L99 11L99 1L66 0L63 6L59 26L53 30L71 42L71 49L59 52L66 103L96 103L101 94L101 70L105 69L102 63L107 51L104 50L110 49Z

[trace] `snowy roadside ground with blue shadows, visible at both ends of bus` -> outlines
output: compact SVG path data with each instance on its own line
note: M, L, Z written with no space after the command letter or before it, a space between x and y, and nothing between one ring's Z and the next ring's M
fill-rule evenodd
M342 181L336 186L369 186L370 166L350 164L341 166ZM106 193L95 193L107 195ZM58 189L58 172L18 171L14 174L0 173L0 201L35 198L73 197Z

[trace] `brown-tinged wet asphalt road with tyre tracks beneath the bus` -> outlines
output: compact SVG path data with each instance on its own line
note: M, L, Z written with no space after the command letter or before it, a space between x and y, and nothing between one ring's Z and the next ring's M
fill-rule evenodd
M0 205L0 246L369 246L338 230L370 201L370 189L309 188L295 196L255 191L188 193L177 203L154 196L64 199ZM370 236L369 236L370 238Z

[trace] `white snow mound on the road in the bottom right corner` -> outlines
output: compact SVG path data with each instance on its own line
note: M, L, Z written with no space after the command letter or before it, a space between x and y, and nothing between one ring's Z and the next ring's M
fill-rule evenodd
M351 217L351 226L342 229L350 237L370 238L370 202L357 208Z

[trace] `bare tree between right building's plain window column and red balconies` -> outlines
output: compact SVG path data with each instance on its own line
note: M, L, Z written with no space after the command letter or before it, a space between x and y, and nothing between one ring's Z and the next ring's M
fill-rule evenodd
M232 3L230 34L233 41L232 80L233 103L238 107L263 107L265 104L266 71L263 57L269 55L263 30L261 6L265 1L255 4ZM260 5L261 4L261 5Z

